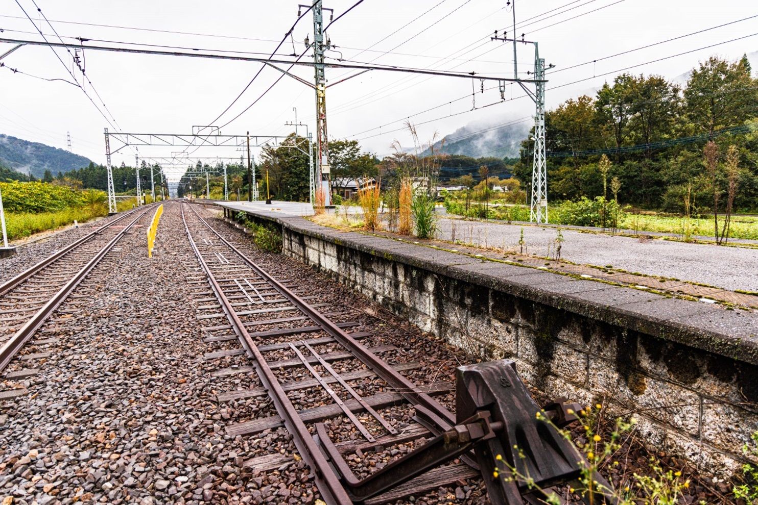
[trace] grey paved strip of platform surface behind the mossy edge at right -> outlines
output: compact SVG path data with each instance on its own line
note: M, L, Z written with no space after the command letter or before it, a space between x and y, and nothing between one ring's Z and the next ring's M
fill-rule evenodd
M454 223L454 224L453 224ZM506 223L440 219L437 238L518 251L522 226ZM554 251L556 229L524 226L529 254L547 256ZM665 240L640 242L637 238L562 230L561 257L575 263L612 265L630 272L702 282L726 289L758 291L758 251L717 245L686 244Z

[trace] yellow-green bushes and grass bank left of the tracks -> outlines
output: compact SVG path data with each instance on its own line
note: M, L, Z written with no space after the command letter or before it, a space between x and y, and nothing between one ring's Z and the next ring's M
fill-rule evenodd
M102 191L46 182L0 182L8 240L108 214Z

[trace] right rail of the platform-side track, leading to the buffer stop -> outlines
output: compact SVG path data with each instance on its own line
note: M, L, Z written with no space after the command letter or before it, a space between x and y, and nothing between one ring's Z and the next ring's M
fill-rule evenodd
M231 245L226 238L222 237L215 229L211 227L211 225L202 219L202 217L197 214L196 210L192 210L198 219L203 224L205 224L205 226L207 226L211 232L215 233L221 242L224 242L228 248L234 251L235 254L237 254L245 263L247 263L248 266L252 268L252 270L255 270L255 273L258 273L259 276L271 284L277 291L280 292L281 295L283 295L284 298L290 300L290 302L298 307L302 313L305 313L306 316L309 316L309 318L314 323L316 323L316 325L320 326L321 329L323 329L324 332L327 332L332 338L334 338L335 341L339 342L343 345L344 348L351 351L356 358L368 366L368 368L376 373L377 376L387 382L387 384L391 385L398 394L400 394L403 398L406 399L406 401L409 402L409 404L421 405L422 407L425 407L434 413L436 415L434 425L436 426L426 426L431 430L431 432L434 433L434 435L440 435L440 433L446 432L455 426L456 416L454 416L453 413L451 413L437 401L434 401L430 395L421 391L417 391L417 385L413 384L413 382L409 381L409 379L406 379L405 376L402 376L401 373L397 372L391 366L388 366L384 360L381 360L380 357L377 357L376 354L369 351L365 345L361 344L355 338L352 338L343 329L341 329L326 316L324 316L324 314L320 313L314 307L307 304L305 301L299 298L299 296L295 295L293 291L290 291L290 289L286 288L281 282L277 281L277 279L274 279L271 275L265 272L265 270L263 270L261 267L258 267L258 265L250 260L249 257ZM425 426L431 423L423 422L422 420L422 424Z

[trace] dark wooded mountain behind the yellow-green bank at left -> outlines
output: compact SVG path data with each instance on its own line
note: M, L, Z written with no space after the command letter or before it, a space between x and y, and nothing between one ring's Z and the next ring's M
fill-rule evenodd
M0 133L0 165L17 172L31 173L37 179L45 174L45 170L50 170L55 176L58 172L86 167L89 163L89 158L79 154Z

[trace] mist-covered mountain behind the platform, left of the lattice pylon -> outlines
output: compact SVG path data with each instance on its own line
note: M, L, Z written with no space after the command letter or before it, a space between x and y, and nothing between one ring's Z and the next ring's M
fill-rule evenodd
M521 142L529 133L531 121L506 126L474 123L444 137L434 145L445 154L471 157L517 157ZM428 154L425 152L424 154Z

